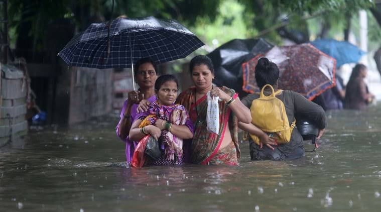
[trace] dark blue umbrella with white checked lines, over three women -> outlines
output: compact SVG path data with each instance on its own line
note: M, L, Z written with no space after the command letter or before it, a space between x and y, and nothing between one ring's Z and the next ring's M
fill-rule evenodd
M118 18L110 26L108 22L91 24L74 36L58 55L70 66L127 68L144 57L152 58L157 64L184 58L203 45L192 32L173 20Z

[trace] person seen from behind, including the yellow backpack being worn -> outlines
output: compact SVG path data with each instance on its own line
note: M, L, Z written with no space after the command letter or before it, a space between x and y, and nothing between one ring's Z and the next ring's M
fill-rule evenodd
M304 155L303 138L295 128L295 117L304 117L319 128L319 140L326 127L324 110L300 93L278 89L277 64L263 57L256 66L260 93L248 94L242 103L250 109L250 124L238 123L249 136L252 160L286 160Z

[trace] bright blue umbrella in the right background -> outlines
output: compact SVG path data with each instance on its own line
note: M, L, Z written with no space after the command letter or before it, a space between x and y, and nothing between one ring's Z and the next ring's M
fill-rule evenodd
M321 39L314 40L311 42L311 44L320 51L335 58L336 67L340 67L346 63L356 63L361 58L361 56L365 54L365 52L359 49L357 46L346 41Z

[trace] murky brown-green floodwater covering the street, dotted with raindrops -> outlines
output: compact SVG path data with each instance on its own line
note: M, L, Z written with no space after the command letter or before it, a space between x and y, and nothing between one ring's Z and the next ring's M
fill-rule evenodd
M294 161L250 161L242 143L236 167L127 168L115 117L34 130L0 149L0 210L378 211L380 109L327 113L320 148Z

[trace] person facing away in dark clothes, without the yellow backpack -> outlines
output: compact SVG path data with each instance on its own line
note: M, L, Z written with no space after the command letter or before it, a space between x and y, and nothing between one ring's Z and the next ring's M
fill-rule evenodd
M300 93L291 90L279 90L278 79L279 69L277 64L265 57L259 59L256 66L256 81L260 89L262 90L262 87L266 84L272 85L276 92L276 97L285 105L289 125L291 126L296 115L307 118L320 129L317 136L317 139L320 139L327 124L324 110ZM267 88L270 87L265 88L264 94L270 95L272 93L271 88ZM248 94L242 98L242 103L247 108L250 108L252 101L259 97L258 93ZM304 155L303 138L297 128L294 128L291 132L290 142L278 145L275 140L269 138L267 133L264 133L251 123L239 122L238 127L260 138L260 145L257 145L249 138L251 160L287 160L300 158Z

